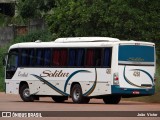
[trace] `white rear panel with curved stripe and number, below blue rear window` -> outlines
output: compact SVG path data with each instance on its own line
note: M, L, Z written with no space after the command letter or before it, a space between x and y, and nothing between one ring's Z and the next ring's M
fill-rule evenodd
M119 66L119 82L122 88L145 88L154 86L154 67Z

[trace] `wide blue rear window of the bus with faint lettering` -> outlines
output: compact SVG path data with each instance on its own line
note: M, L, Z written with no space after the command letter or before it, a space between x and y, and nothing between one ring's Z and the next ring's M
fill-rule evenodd
M154 62L153 46L120 45L119 61Z

